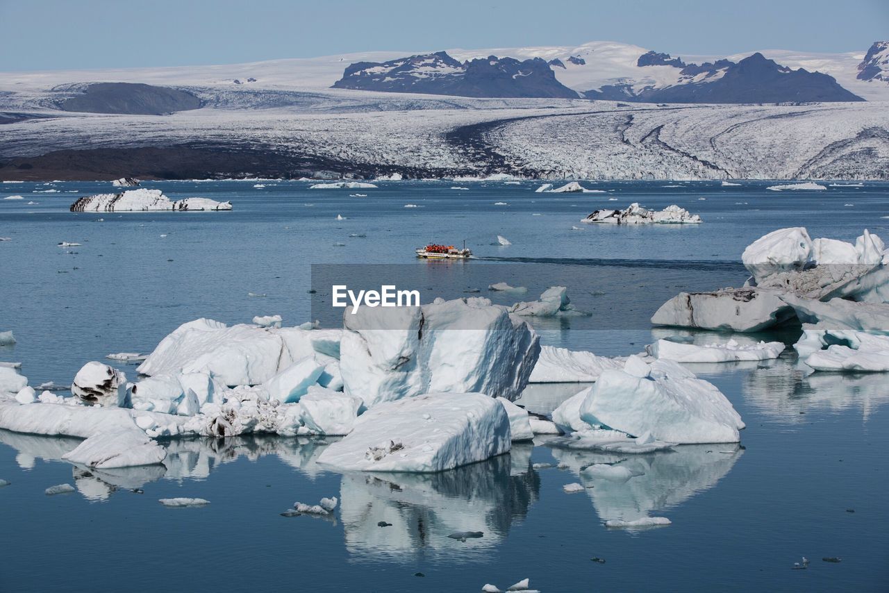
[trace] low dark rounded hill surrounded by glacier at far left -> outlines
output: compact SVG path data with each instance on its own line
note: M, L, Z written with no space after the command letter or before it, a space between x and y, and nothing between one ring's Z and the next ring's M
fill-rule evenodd
M162 116L201 105L201 100L190 92L133 83L88 84L81 94L58 103L63 111L140 116Z

